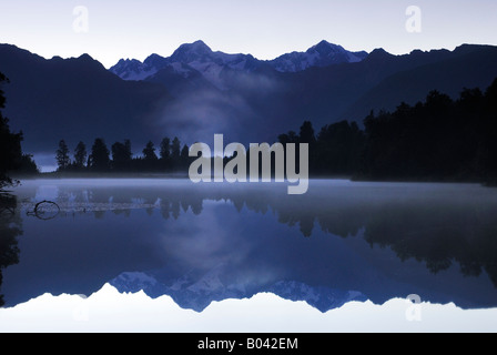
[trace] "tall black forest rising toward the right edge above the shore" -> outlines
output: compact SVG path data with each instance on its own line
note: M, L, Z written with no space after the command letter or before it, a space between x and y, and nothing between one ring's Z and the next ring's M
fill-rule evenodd
M281 143L310 144L310 173L373 181L497 184L497 79L453 100L430 91L424 102L371 112L364 126L342 121L316 134L306 121Z

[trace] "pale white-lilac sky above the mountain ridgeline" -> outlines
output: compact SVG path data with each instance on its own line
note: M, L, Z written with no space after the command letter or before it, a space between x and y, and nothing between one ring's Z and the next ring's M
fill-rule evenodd
M121 58L169 57L196 40L263 60L321 40L394 54L497 45L497 1L0 0L0 43L44 58L89 53L110 68Z

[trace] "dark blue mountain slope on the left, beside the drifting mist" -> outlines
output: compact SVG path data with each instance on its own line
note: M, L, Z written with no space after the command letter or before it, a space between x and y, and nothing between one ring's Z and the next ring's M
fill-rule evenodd
M53 153L61 139L71 151L97 136L141 141L156 104L170 100L162 85L123 81L88 54L45 60L0 44L0 69L10 80L4 113L30 153Z

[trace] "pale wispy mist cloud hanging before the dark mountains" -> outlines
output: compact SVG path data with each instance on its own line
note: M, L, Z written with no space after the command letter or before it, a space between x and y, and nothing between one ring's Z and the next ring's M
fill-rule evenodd
M230 89L173 91L175 99L162 108L156 126L164 135L181 136L189 145L212 142L216 133L224 134L227 142L261 136L257 133L265 130L265 115L257 105L278 84L265 75L244 72L224 78L224 84Z

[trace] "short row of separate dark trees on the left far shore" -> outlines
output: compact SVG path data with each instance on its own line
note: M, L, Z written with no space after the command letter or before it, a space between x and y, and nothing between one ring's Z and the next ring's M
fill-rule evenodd
M176 136L162 139L159 150L149 141L138 156L133 156L130 140L115 142L109 149L104 139L98 138L90 151L79 142L72 156L68 144L61 140L55 151L58 172L174 172L190 165L189 146L182 146Z

